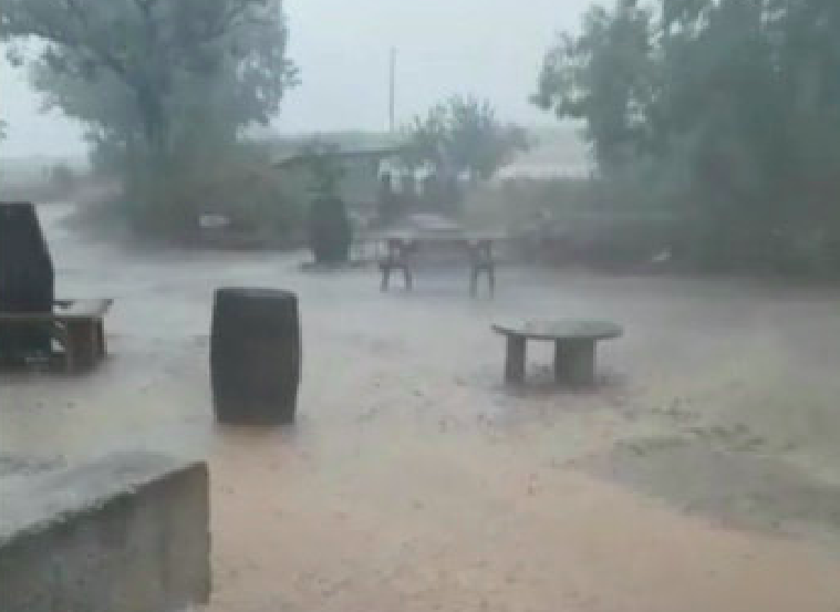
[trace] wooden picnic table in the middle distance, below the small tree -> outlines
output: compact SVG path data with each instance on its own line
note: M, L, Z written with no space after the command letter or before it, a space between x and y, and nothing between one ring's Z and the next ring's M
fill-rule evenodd
M414 237L414 238L387 238L385 241L385 257L380 261L382 270L382 290L387 291L391 273L394 270L402 271L405 288L414 288L414 264L412 257L422 249L437 250L455 248L460 253L466 253L469 263L469 293L474 298L478 295L478 284L481 274L487 277L490 295L496 292L496 262L492 258L491 238L468 237Z

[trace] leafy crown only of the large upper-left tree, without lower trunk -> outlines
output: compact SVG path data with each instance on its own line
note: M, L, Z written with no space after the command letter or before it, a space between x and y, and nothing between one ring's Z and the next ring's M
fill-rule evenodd
M281 0L0 0L0 37L39 39L10 54L46 106L158 158L190 129L267 123L297 76Z

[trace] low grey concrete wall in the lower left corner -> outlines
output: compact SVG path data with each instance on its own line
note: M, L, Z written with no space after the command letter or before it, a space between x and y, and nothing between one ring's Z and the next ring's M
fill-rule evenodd
M207 466L146 453L0 481L0 612L172 612L210 592Z

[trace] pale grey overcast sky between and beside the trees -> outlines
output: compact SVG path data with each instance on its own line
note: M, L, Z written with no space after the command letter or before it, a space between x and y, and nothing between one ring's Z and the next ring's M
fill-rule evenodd
M107 1L107 0L103 0ZM388 50L397 49L397 122L456 92L488 97L526 125L551 117L528 104L546 49L578 28L592 0L286 0L290 56L302 83L287 95L282 132L381 129ZM2 155L83 152L79 128L39 113L25 74L0 66Z

